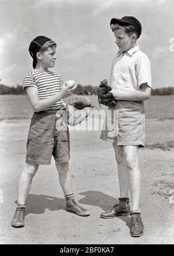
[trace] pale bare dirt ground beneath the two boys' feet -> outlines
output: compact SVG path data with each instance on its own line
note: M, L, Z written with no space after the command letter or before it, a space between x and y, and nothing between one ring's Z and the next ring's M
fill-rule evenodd
M153 194L153 183L173 172L174 151L140 150L144 236L129 235L130 218L100 219L115 204L118 177L111 145L99 140L99 131L71 131L71 161L76 199L90 211L86 218L65 211L57 170L40 166L27 200L23 229L10 226L24 165L30 120L0 123L1 244L173 244L174 207ZM3 192L3 195L2 195Z

